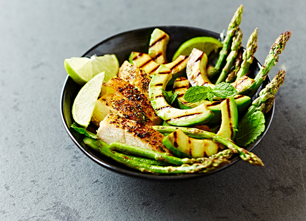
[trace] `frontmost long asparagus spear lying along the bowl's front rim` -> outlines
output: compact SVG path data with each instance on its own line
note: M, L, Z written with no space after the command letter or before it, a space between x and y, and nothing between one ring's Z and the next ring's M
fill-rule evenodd
M202 163L193 163L191 165L183 164L180 166L159 166L159 165L152 165L146 162L139 162L135 160L135 158L130 157L129 155L118 153L114 150L111 150L105 146L103 146L100 142L95 139L85 137L84 143L95 150L99 150L100 153L103 155L110 157L111 159L115 160L122 165L127 167L140 170L142 172L152 172L154 174L182 174L182 173L193 173L200 170L203 172L206 169L206 172L215 169L221 165L229 163L226 158L214 158L211 160L206 160ZM208 170L210 169L210 170Z

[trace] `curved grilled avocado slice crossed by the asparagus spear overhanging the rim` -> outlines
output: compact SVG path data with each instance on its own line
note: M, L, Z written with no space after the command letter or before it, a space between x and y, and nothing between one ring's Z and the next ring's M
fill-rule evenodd
M238 127L238 110L235 99L227 98L221 102L222 123L217 135L235 139ZM218 153L224 146L211 139L195 139L177 130L163 139L163 144L178 157L207 157Z

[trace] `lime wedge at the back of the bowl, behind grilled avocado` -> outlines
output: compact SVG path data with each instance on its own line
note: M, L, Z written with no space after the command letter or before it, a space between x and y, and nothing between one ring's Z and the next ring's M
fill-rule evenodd
M208 56L210 52L217 52L222 47L222 42L213 37L194 37L185 41L178 50L174 53L172 61L175 60L179 55L187 55L191 53L192 49L196 48Z

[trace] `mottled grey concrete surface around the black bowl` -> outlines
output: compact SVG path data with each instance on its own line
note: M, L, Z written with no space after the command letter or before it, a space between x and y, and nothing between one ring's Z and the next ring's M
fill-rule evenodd
M256 57L292 31L270 73L286 68L269 132L239 161L183 183L128 178L97 165L60 119L65 58L103 39L156 25L222 32L244 5L243 46L258 27ZM303 0L0 1L0 220L306 220L306 55Z

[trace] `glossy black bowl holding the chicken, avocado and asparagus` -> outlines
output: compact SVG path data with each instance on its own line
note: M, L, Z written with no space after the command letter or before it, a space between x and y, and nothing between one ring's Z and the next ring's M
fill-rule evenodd
M167 47L167 58L169 61L171 60L171 57L173 56L174 52L178 49L178 47L183 42L187 41L192 37L197 37L197 36L211 36L214 38L220 37L220 34L215 32L199 28L184 27L184 26L161 26L161 27L143 28L134 31L124 32L112 36L110 38L107 38L106 40L103 40L101 43L97 44L96 46L88 50L83 55L83 57L90 57L94 54L98 56L101 56L103 54L116 54L119 60L119 65L121 65L125 60L128 60L131 51L139 51L147 53L150 35L155 28L159 28L170 35L170 41ZM254 62L250 67L251 73L249 74L249 77L254 78L260 67L261 67L260 63L257 61L257 59L254 59ZM264 81L264 83L261 85L261 87L258 89L258 91L260 91L261 88L263 88L269 82L270 79L267 78ZM217 171L223 170L233 165L238 160L240 160L240 157L238 155L235 155L231 159L230 164L225 165L217 170L213 170L203 174L155 175L151 173L142 173L138 170L125 167L86 146L83 142L84 136L76 133L72 128L70 128L70 125L73 122L71 107L74 98L76 97L80 88L81 87L76 83L74 83L74 81L69 76L67 77L62 89L61 102L60 102L61 117L64 123L64 127L68 135L78 146L78 148L80 148L80 150L83 151L83 153L85 153L90 159L92 159L93 161L95 161L96 163L98 163L99 165L101 165L106 169L118 172L126 176L146 179L146 180L183 181L183 180L195 179L213 174ZM255 99L258 96L258 91L253 99ZM273 114L274 114L274 105L272 107L272 110L265 115L266 119L265 131L261 134L261 136L258 137L257 140L255 140L255 142L253 142L246 148L248 151L252 151L255 148L255 146L257 146L259 142L262 140L262 138L266 135L270 127Z

